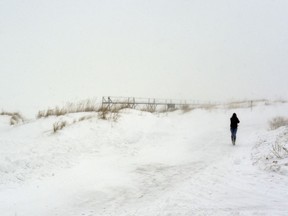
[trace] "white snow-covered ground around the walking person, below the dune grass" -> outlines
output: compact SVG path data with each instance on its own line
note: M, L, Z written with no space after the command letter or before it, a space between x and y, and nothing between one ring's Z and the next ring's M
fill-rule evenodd
M240 125L231 145L229 118ZM0 116L1 216L288 215L287 104L150 114L125 110L53 134L50 117Z

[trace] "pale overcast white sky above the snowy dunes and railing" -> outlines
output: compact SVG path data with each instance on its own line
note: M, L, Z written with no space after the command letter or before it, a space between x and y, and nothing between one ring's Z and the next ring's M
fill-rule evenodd
M287 23L287 0L0 0L0 109L287 99Z

